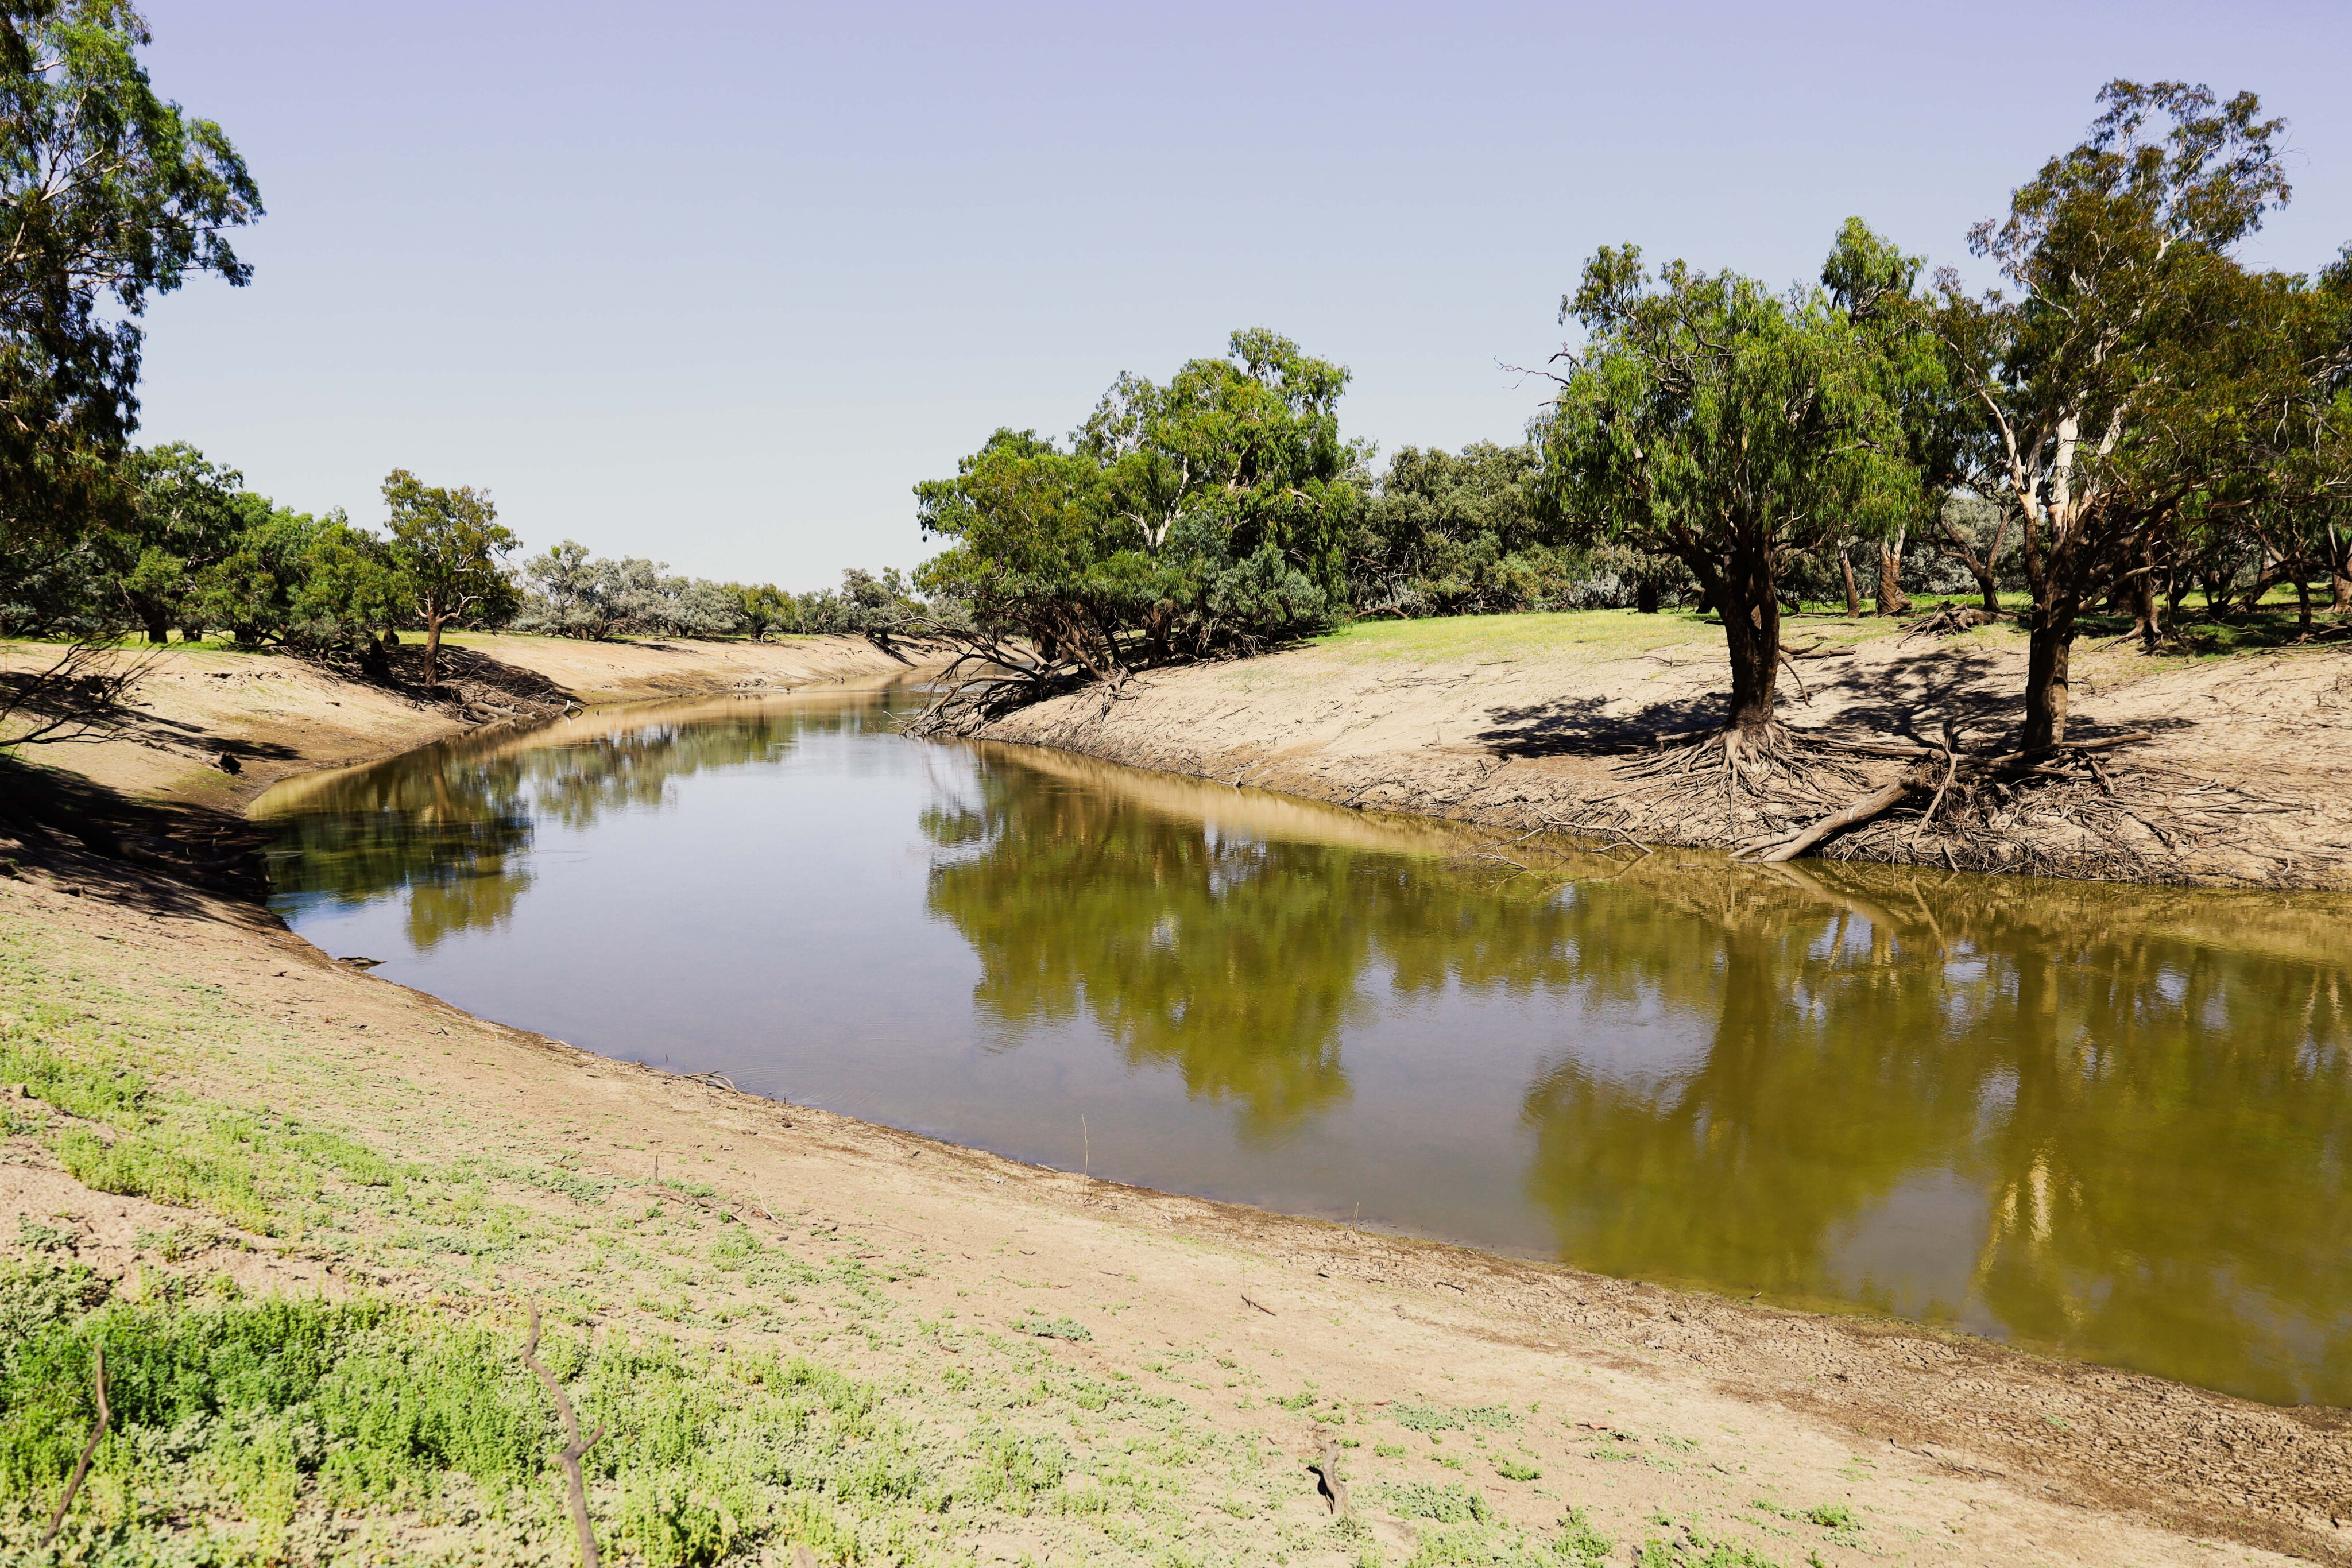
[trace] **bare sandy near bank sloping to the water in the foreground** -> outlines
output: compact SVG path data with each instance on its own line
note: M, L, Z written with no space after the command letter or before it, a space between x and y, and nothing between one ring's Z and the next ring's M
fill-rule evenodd
M0 950L19 1046L136 1060L172 1095L334 1128L416 1171L393 1187L329 1171L263 1227L94 1192L59 1150L96 1124L14 1117L0 1204L26 1220L19 1248L64 1232L118 1295L226 1272L435 1302L515 1338L546 1300L607 1340L797 1349L887 1389L943 1465L1009 1422L1101 1476L1181 1429L1150 1507L967 1509L927 1526L946 1561L1176 1542L1190 1561L1402 1561L1439 1530L1411 1500L1454 1486L1484 1497L1484 1530L1543 1533L1581 1507L1611 1559L1665 1540L1686 1554L1663 1561L1731 1542L1759 1556L1724 1561L1783 1568L2352 1561L2343 1413L1023 1166L506 1030L94 858L0 882ZM866 1284L835 1298L762 1272L786 1265ZM1357 1443L1355 1535L1305 1469L1336 1439ZM452 1540L433 1509L372 1528L402 1552ZM489 1556L564 1549L550 1530Z

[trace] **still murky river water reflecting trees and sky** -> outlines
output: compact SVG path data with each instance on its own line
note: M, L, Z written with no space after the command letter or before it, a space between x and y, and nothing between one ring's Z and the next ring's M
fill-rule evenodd
M278 907L475 1013L1021 1159L2352 1403L2343 900L1503 879L889 708L296 783Z

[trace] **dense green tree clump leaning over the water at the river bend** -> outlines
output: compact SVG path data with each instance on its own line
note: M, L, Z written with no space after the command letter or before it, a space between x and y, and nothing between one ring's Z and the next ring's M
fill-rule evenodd
M1289 339L1235 331L1167 386L1120 376L1068 451L997 430L915 487L924 534L950 541L915 581L1091 677L1324 625L1364 505L1345 386Z

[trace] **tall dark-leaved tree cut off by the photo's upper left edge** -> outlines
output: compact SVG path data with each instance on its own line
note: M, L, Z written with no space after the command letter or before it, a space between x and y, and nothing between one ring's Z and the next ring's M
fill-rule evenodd
M261 216L212 120L160 99L125 0L0 5L0 583L56 578L129 510L139 317L191 273L245 284ZM14 592L12 592L14 597Z

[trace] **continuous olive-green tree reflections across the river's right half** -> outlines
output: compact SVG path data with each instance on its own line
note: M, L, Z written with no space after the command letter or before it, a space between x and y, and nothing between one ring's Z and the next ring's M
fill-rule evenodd
M1566 1260L2352 1394L2343 900L1670 856L1498 884L1002 757L924 830L1000 1041L1084 1013L1244 1147L1348 1100L1383 980L1550 997L1576 1044L1522 1103L1526 1197ZM1693 1048L1599 1046L1635 1020Z

